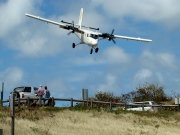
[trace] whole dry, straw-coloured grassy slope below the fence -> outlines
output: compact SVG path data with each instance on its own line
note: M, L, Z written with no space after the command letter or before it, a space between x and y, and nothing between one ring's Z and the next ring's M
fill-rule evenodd
M177 135L180 113L35 107L15 109L15 134L27 135ZM11 133L9 108L0 107L0 128Z

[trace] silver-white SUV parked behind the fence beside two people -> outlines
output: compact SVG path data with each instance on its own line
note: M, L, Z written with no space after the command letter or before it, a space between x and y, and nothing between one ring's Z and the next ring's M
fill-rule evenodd
M29 98L38 98L37 96L38 88L37 87L32 87L32 86L21 86L21 87L16 87L13 90L13 93L15 94L15 104L18 104L17 99L27 99ZM12 93L12 92L11 92ZM33 101L30 101L30 104L32 104ZM42 101L43 102L43 101ZM45 105L51 105L51 100L46 100ZM20 100L20 104L25 104L27 103L27 100ZM36 102L36 104L39 104L39 102ZM55 102L54 102L55 105Z

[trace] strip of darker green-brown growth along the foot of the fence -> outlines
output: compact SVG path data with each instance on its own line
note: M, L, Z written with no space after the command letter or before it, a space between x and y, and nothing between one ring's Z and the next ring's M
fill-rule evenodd
M145 116L145 117L161 117L161 118L169 118L169 117L176 117L176 114L178 112L175 111L162 111L162 112L149 112L149 111L125 111L122 109L118 110L105 110L102 108L90 108L83 106L82 104L78 104L75 107L35 107L35 108L28 108L27 106L22 106L21 109L15 108L15 117L17 119L28 119L32 121L36 121L39 119L42 119L43 117L46 116L51 116L54 115L55 113L63 112L65 110L70 110L70 111L93 111L93 112L108 112L112 113L115 115L120 115L120 114L134 114L138 116ZM0 120L4 117L10 117L10 111L8 107L0 107ZM176 118L179 119L180 118Z

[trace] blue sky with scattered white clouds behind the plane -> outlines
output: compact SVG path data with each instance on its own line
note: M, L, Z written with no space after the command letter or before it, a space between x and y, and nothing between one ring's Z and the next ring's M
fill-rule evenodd
M152 43L103 40L99 52L86 45L72 49L79 39L68 31L25 16L78 22L100 32L152 39ZM119 96L139 84L158 83L167 94L180 88L179 0L1 0L0 82L5 98L17 86L47 85L52 96L81 98L98 91Z

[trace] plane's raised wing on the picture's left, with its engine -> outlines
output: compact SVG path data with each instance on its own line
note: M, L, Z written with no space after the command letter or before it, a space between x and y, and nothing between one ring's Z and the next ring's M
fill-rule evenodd
M55 21L48 20L48 19L45 19L45 18L41 18L39 16L34 16L34 15L31 15L31 14L25 14L25 15L27 17L31 17L31 18L41 20L41 21L44 21L44 22L47 22L47 23L55 24L55 25L57 25L57 26L59 26L60 28L63 28L63 29L71 30L72 33L74 33L74 32L84 33L84 31L82 29L79 29L77 25L74 25L74 22L73 23L64 22L66 24L63 24L63 23L55 22ZM63 21L61 21L61 22L63 22Z

